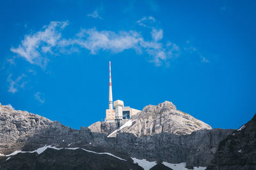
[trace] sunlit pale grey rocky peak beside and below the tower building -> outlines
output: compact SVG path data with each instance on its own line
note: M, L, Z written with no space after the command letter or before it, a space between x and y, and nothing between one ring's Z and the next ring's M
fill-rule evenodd
M93 132L110 134L116 129L116 124L113 122L96 122L88 128ZM145 106L143 111L132 117L132 125L125 127L121 132L132 133L140 137L164 132L184 135L204 129L212 128L188 113L177 110L172 102L165 101L157 106Z

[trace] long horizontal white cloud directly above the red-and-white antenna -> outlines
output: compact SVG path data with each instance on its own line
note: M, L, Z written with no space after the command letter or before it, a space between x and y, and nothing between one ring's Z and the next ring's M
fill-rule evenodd
M153 41L146 41L140 33L136 31L97 31L97 29L84 29L77 34L77 39L63 40L62 46L79 45L90 50L92 54L97 54L99 50L107 50L113 53L132 49L138 53L146 52L149 61L155 62L156 66L161 66L166 60L179 52L179 46L169 43L166 47L158 41L162 38L163 32L154 35ZM156 41L157 40L157 41Z

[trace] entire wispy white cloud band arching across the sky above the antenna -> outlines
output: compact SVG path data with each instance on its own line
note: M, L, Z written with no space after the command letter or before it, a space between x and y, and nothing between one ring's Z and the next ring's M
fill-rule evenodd
M76 36L63 38L61 32L68 22L51 22L42 31L26 35L19 47L11 48L11 51L41 67L47 64L47 54L79 52L79 48L86 48L93 55L100 50L113 53L135 50L138 54L147 53L147 60L155 62L156 66L179 55L179 46L175 43L161 42L163 29L152 26L157 25L154 17L143 17L137 23L149 29L152 39L144 38L137 31L98 31L96 28L81 29Z

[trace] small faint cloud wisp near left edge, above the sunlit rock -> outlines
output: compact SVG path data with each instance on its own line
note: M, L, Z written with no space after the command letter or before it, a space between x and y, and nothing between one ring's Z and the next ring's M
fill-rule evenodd
M16 80L12 80L11 77L12 77L12 74L9 74L9 76L7 78L7 81L10 83L8 92L15 94L15 92L17 92L19 88L24 88L26 81L21 81L21 80L22 80L22 78L26 77L26 74L22 74Z

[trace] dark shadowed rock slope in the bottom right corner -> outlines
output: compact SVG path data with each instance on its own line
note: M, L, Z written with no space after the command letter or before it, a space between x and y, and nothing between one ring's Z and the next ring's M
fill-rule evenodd
M221 141L207 169L256 169L256 114Z

